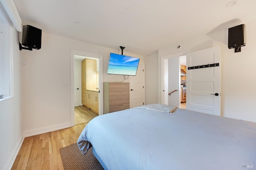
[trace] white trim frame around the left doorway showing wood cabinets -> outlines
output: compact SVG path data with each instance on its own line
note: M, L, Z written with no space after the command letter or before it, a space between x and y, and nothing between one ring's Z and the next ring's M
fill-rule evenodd
M87 53L83 51L70 50L70 90L71 90L71 103L70 103L70 117L71 126L75 125L75 113L74 113L74 55L82 55L86 57L99 59L99 115L103 115L103 55Z

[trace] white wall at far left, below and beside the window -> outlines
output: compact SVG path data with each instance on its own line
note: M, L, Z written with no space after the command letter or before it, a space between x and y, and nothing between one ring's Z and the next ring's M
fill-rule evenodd
M0 106L0 169L10 169L22 144L20 116L20 55L18 33L14 33L14 97Z

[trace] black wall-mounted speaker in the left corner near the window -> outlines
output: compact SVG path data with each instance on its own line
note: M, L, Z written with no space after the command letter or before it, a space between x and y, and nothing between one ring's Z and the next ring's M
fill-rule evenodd
M22 30L22 47L20 44L20 50L28 49L32 51L32 49L40 49L41 48L41 40L42 40L42 30L39 28L25 25Z

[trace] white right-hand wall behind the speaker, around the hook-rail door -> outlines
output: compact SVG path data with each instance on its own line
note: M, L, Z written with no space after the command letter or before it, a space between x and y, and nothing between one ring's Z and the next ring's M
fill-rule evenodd
M256 20L242 23L246 25L246 46L242 52L234 53L228 49L228 29L220 30L208 36L197 37L193 41L182 41L180 49L177 44L159 49L158 57L180 53L182 51L197 51L220 45L221 47L221 115L234 119L256 122L254 103L256 101ZM159 64L159 67L161 65ZM160 76L160 73L158 72ZM161 87L161 83L158 85Z

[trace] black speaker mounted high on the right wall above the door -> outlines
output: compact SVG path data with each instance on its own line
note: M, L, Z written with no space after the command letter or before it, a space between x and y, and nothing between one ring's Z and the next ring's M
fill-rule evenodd
M240 52L241 47L245 46L245 25L241 24L228 28L228 48L235 48L235 52Z

